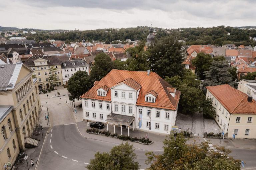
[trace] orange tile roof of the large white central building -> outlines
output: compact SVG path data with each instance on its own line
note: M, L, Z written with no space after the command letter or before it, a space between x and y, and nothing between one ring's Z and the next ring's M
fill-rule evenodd
M147 71L127 71L127 70L111 70L105 77L103 77L96 85L94 85L89 91L81 96L81 98L111 101L111 89L106 96L98 96L97 89L106 85L107 87L113 87L120 82L127 80L127 84L133 85L133 81L141 86L137 106L152 107L159 109L177 110L177 106L180 99L180 91L176 90L175 97L168 92L167 87L172 87L164 79L162 79L155 72L150 72L147 75ZM129 81L128 81L129 80ZM134 84L134 88L137 85ZM158 96L155 103L146 102L145 94L154 90Z

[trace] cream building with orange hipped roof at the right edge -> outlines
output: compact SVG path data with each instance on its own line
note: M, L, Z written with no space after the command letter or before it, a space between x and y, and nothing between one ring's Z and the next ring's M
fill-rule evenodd
M256 101L228 84L208 86L206 97L215 107L215 121L226 137L256 138Z

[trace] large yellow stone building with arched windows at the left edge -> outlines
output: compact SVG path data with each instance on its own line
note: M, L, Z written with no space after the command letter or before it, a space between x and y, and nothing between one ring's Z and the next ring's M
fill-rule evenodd
M39 120L37 79L23 63L0 65L0 169L14 164Z

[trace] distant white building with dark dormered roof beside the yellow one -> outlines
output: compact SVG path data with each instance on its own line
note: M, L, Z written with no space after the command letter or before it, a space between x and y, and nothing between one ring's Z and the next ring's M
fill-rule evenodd
M77 71L86 71L89 75L89 64L85 60L61 61L63 84L68 84L69 78Z

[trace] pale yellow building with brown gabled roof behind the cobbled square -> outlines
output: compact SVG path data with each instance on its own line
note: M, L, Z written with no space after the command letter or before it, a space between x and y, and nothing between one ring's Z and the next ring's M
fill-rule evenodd
M27 59L24 64L34 71L33 75L38 79L40 89L47 89L52 86L52 82L49 81L51 68L57 68L54 74L57 74L59 79L54 82L54 86L62 86L61 62L57 56L34 56Z

